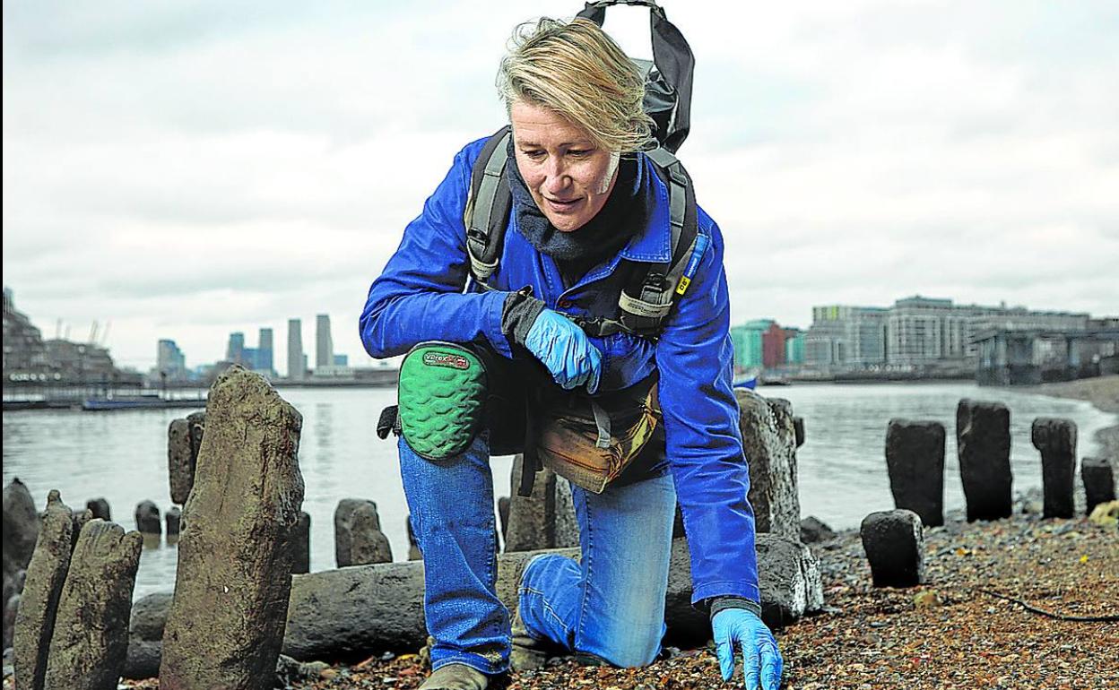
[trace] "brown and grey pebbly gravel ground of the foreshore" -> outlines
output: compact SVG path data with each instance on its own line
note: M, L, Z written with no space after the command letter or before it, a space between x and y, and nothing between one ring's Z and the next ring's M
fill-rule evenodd
M1060 621L994 594L1071 616L1119 615L1119 532L1087 519L968 524L950 516L925 530L928 583L876 589L858 535L814 546L827 609L783 631L783 688L1054 689L1119 688L1119 623ZM994 593L994 594L991 594ZM594 688L685 690L722 683L709 649L679 652L636 670L551 668L514 675L508 690ZM426 675L420 656L379 656L320 671L299 690L410 690ZM130 688L153 689L154 681Z

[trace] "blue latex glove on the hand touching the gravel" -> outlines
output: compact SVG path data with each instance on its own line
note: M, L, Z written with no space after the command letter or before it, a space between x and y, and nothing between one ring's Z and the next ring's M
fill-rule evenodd
M724 608L712 618L715 655L723 680L734 674L734 648L742 652L742 672L746 690L778 690L781 686L781 652L777 640L762 620L745 608Z

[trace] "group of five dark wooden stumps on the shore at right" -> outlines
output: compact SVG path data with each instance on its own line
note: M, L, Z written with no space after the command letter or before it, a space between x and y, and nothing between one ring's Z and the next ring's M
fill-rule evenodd
M1031 439L1041 453L1042 517L1073 518L1076 425L1070 419L1038 417ZM1000 403L960 400L956 441L968 521L1009 518L1009 409ZM886 432L886 467L895 509L872 512L863 520L863 548L876 586L912 587L924 582L924 527L944 523L944 426L892 419ZM1080 474L1087 513L1116 500L1107 457L1084 457Z

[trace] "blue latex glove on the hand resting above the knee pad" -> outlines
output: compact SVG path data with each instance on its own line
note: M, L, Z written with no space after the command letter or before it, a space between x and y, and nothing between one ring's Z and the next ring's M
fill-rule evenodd
M584 384L587 393L599 389L602 352L591 344L583 329L563 314L551 309L542 311L528 329L525 347L565 390Z

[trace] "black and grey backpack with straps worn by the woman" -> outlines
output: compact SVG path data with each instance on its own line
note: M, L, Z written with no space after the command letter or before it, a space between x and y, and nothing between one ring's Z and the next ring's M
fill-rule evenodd
M668 263L646 263L643 272L621 291L614 319L589 319L568 314L590 335L604 337L628 332L656 339L671 312L676 295L683 295L695 273L708 239L698 234L695 193L692 179L673 154L688 134L692 104L692 75L695 60L684 36L665 17L653 0L602 0L587 2L579 17L602 26L605 8L612 4L641 4L649 8L653 60L633 60L646 77L645 111L657 123L658 146L646 151L661 181L668 187L673 242ZM473 281L489 289L487 281L497 270L505 244L506 224L513 206L507 143L509 126L497 131L482 146L470 176L470 197L463 223Z

